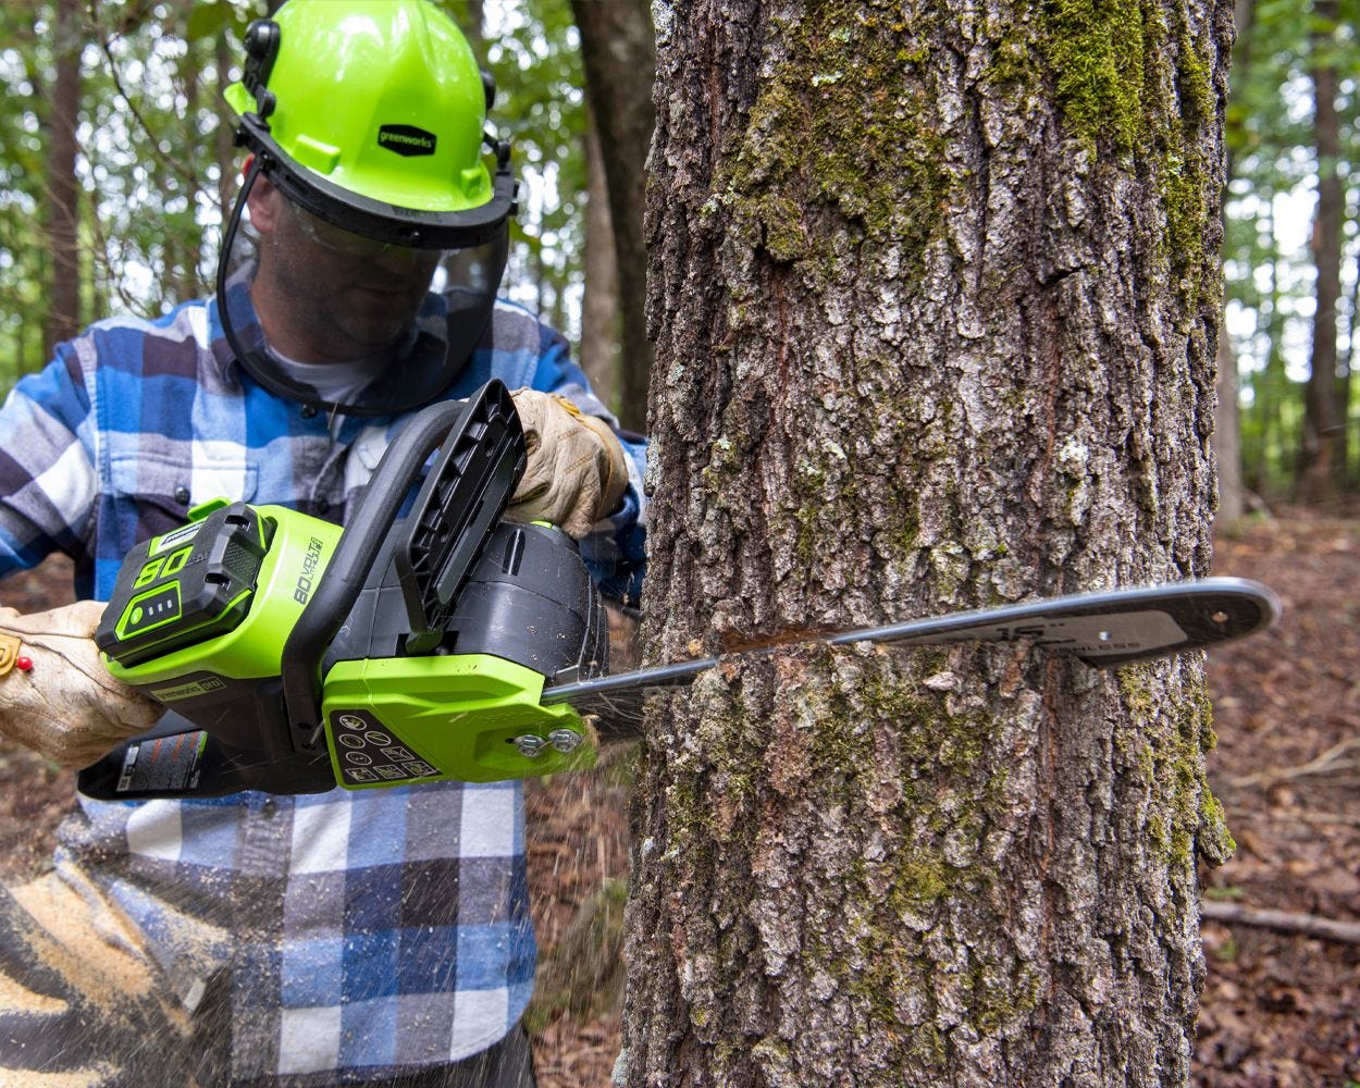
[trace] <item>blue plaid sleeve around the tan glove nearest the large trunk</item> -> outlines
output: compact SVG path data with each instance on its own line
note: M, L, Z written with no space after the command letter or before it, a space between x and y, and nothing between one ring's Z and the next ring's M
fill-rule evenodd
M628 487L619 507L597 522L594 530L581 541L581 556L605 597L636 608L646 573L647 500L642 480L647 465L647 439L620 431L619 420L596 396L585 371L573 362L566 339L545 325L541 329L539 366L532 388L563 396L582 412L605 420L623 447Z

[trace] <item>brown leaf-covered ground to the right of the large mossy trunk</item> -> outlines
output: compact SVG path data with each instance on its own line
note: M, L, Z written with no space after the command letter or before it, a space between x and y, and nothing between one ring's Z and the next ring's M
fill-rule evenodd
M1360 923L1360 520L1276 511L1219 541L1214 574L1269 583L1285 616L1209 661L1209 781L1238 853L1204 872L1205 898L1346 933ZM1204 942L1197 1084L1360 1081L1360 948L1220 919Z

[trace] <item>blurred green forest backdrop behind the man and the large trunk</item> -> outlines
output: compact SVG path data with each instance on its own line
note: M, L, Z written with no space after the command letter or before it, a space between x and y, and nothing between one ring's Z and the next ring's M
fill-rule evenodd
M509 294L568 335L641 430L647 3L443 1L495 75L494 122L524 180ZM241 162L220 91L245 26L269 8L0 4L11 103L0 116L0 392L88 321L162 313L209 290ZM1236 22L1220 524L1360 491L1360 0L1240 0Z

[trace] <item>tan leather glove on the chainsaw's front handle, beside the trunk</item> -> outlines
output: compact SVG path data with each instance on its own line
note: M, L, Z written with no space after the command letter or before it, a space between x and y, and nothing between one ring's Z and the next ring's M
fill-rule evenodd
M613 513L628 487L623 446L608 423L566 397L534 389L510 396L524 424L529 464L506 515L549 521L579 540Z

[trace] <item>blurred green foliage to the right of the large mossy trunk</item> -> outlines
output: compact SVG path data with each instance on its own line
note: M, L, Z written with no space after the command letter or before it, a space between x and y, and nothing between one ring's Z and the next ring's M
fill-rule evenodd
M1239 14L1247 26L1234 52L1227 113L1224 272L1242 378L1243 477L1247 487L1272 496L1293 484L1304 418L1314 309L1307 227L1319 169L1310 71L1321 65L1341 76L1342 152L1336 167L1348 209L1338 313L1344 390L1355 381L1352 366L1360 366L1360 0L1341 0L1338 18L1330 22L1293 0L1243 0L1243 5Z

